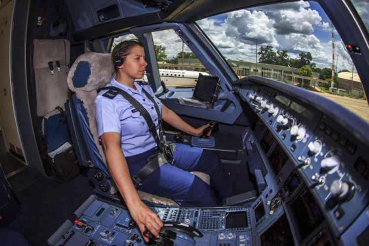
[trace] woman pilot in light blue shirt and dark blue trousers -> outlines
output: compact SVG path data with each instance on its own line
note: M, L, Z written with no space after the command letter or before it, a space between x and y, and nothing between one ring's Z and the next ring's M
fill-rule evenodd
M208 124L194 128L185 123L176 113L157 99L151 87L137 82L145 73L147 62L143 44L137 40L123 41L112 52L116 77L107 86L117 87L129 93L149 112L158 129L158 117L173 127L193 136L202 134ZM116 62L116 60L120 62ZM160 115L156 114L154 102ZM95 115L98 135L102 141L110 173L125 204L139 226L141 233L147 227L158 236L163 223L140 199L131 180L148 162L148 157L157 153L154 137L145 119L122 95L114 98L104 96L101 91L95 100ZM173 159L175 165L164 164L151 173L139 189L162 197L168 197L182 206L218 206L218 198L227 197L232 185L219 164L218 157L209 150L176 144ZM211 186L189 173L200 171L210 175ZM147 238L145 238L147 240Z

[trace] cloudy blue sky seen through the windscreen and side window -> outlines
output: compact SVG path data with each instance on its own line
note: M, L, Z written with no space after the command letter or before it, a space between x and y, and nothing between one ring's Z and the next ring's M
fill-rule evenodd
M330 23L322 21L319 12L309 7L306 1L276 4L234 11L225 14L224 21L208 18L197 24L226 59L255 62L257 40L259 49L261 45L272 45L275 50L287 50L291 58L310 52L319 67L332 67L332 41L323 41L314 32L317 28L327 31L323 32L327 35L324 40L330 40ZM182 40L174 31L154 32L153 37L155 44L166 47L168 57L182 51ZM338 35L336 40L338 70L351 70L350 56ZM184 47L184 51L190 51Z

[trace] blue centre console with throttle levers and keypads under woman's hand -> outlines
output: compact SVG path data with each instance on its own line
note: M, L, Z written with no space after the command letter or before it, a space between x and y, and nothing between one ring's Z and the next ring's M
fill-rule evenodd
M157 242L162 246L251 246L250 207L150 207L164 223ZM126 208L91 196L72 220L49 238L49 245L148 245ZM174 232L174 234L173 234ZM168 236L167 236L168 235Z

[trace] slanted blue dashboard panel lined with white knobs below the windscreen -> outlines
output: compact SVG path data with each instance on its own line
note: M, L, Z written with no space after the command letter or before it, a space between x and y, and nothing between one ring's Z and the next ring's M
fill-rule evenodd
M288 195L305 183L321 215L339 237L368 205L368 147L338 125L337 119L282 92L248 86L238 93L268 129L259 143L269 153L266 163L277 182L284 165L292 163L290 177L278 185ZM298 200L295 203L303 204ZM302 208L296 204L292 207ZM297 211L293 213L298 215ZM317 215L319 220L322 216ZM300 235L306 236L305 232Z

